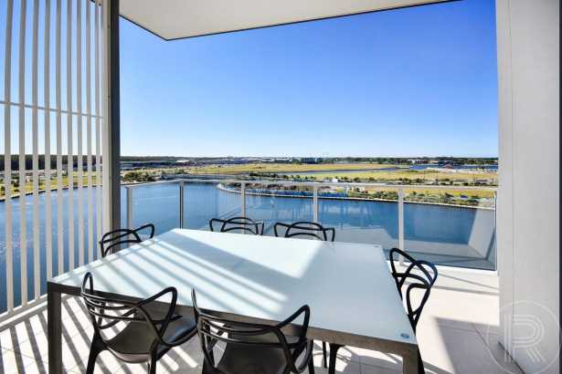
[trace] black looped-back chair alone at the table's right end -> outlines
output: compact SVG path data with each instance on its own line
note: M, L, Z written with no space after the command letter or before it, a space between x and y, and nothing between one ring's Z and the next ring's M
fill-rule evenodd
M396 270L393 257L395 254L404 255L409 261L409 265L404 272L400 273ZM418 327L419 317L421 317L421 311L428 302L431 288L439 275L437 267L429 261L416 260L411 255L400 251L398 248L393 248L390 251L390 265L392 267L392 276L398 287L398 295L402 300L404 300L404 296L406 296L406 315L415 333ZM404 290L406 291L405 295ZM416 299L414 299L414 294L418 294ZM337 350L339 348L342 348L342 346L330 344L330 372L334 372L332 368L335 367L335 359L337 358ZM419 351L418 369L420 373L425 373L423 360L421 359Z

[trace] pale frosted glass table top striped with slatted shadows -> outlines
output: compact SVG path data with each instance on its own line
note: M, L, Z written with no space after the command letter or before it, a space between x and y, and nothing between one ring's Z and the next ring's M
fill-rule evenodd
M167 286L178 305L281 321L311 308L311 327L417 344L379 245L175 229L49 283L144 298Z

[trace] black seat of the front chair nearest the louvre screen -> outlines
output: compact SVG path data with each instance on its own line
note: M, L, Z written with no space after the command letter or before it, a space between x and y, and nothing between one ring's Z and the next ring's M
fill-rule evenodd
M186 338L196 334L196 323L193 318L179 317L169 323L164 333L164 341ZM107 343L107 348L117 358L125 362L138 363L150 360L150 351L155 342L150 327L143 322L130 322L122 331ZM157 358L161 358L170 348L160 345Z

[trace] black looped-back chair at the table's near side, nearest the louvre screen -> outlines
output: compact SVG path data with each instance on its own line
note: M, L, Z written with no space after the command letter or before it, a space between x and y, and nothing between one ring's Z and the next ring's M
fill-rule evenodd
M196 335L196 322L191 317L175 314L177 291L168 287L142 301L131 302L119 298L101 296L94 290L91 273L84 275L80 293L94 327L90 345L87 374L94 372L96 358L109 350L116 358L127 363L146 363L148 372L155 374L156 362L171 348L186 343ZM154 316L147 306L161 297L170 302L163 316ZM124 326L112 338L104 330Z

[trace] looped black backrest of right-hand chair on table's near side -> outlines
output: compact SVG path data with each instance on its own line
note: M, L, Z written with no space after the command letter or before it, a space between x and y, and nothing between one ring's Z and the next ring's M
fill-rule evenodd
M302 372L306 364L312 357L313 340L306 338L308 323L310 320L309 306L301 306L299 310L292 314L281 323L271 325L251 324L229 320L222 317L215 317L203 312L197 306L196 290L191 293L192 302L195 310L197 334L199 342L204 353L207 364L213 369L217 368L217 363L213 355L213 348L217 341L228 344L239 345L241 347L251 348L271 348L281 349L286 360L285 370L290 372ZM302 327L298 334L296 342L289 343L287 338L281 331L281 328L287 327L298 317L302 316ZM296 360L306 349L307 357L303 359L301 367L298 367ZM218 371L217 371L218 374Z

